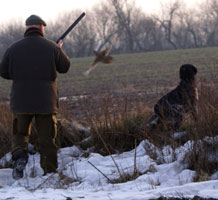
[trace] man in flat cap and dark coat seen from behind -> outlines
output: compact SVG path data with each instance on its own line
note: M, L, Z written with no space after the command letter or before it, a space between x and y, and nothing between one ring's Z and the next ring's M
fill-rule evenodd
M23 177L28 162L28 140L35 119L40 146L40 164L44 174L56 172L58 112L57 72L66 73L68 56L56 44L44 38L46 23L37 15L26 20L24 38L11 45L0 64L0 75L11 79L11 110L13 119L12 176Z

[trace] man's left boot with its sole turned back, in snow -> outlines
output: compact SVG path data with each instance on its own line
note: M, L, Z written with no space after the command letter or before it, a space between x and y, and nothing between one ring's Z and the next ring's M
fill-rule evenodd
M23 170L25 169L26 164L28 162L28 153L27 153L27 151L22 151L22 152L15 153L12 156L12 159L14 161L12 177L15 180L23 178Z

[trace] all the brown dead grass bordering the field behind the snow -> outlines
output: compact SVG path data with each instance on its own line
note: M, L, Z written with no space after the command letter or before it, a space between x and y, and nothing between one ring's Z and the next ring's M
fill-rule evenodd
M77 105L83 113L82 123L91 127L91 137L81 145L87 135L78 131L74 126L73 113L68 109L67 102L61 103L58 115L58 137L59 147L81 145L81 148L94 148L94 152L102 155L132 150L142 140L148 139L156 147L170 145L175 148L184 144L187 140L194 142L190 153L186 157L189 169L197 172L196 181L208 179L218 167L218 162L211 156L218 151L218 92L216 84L201 82L199 84L198 121L187 116L182 124L181 131L186 131L185 141L173 139L173 130L160 127L151 130L145 127L145 122L150 117L152 109L148 108L146 98L134 96L137 101L132 101L131 96L119 96L114 94L93 96L80 99ZM10 151L12 114L7 102L0 104L0 156ZM69 134L70 133L70 134ZM71 134L73 133L73 134ZM206 137L210 139L205 139ZM33 126L30 142L38 149L37 133ZM216 159L215 159L216 160Z

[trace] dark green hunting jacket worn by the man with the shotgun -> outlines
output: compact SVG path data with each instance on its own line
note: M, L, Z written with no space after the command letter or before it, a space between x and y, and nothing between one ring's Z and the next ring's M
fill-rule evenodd
M66 73L70 60L58 45L30 28L24 39L5 52L0 75L13 80L11 109L15 113L57 113L57 72Z

